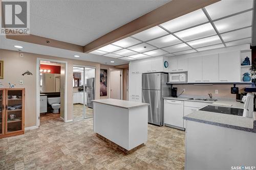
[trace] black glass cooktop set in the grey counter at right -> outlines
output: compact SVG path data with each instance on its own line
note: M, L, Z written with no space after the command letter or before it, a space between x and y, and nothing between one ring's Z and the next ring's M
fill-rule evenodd
M243 111L244 111L244 109L240 109L240 108L212 106L212 105L205 106L199 110L207 111L207 112L223 113L223 114L232 114L237 116L243 116Z

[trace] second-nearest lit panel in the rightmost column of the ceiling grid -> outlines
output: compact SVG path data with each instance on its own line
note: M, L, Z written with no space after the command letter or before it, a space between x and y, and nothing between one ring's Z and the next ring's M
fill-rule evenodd
M234 15L225 19L214 22L219 33L240 29L251 26L252 11L248 11L239 15Z

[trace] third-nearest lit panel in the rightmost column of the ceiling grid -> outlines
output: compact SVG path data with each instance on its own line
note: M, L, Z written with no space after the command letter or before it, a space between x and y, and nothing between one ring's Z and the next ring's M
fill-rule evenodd
M221 37L225 42L251 37L251 27L221 34Z

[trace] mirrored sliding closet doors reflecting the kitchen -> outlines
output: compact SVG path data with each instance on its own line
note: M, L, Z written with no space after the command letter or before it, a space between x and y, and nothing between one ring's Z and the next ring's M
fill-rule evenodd
M93 117L95 67L73 66L73 119Z

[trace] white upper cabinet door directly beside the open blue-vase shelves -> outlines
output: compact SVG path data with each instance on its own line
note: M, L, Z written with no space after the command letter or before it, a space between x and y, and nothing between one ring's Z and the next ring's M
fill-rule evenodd
M240 51L219 54L219 81L240 82Z

